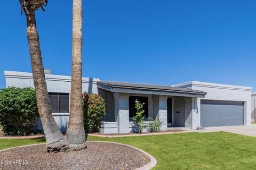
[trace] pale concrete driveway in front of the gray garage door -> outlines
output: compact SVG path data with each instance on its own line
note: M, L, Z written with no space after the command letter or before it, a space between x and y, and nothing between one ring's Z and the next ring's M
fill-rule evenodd
M256 125L252 126L220 126L212 128L204 128L205 132L231 132L256 137Z

